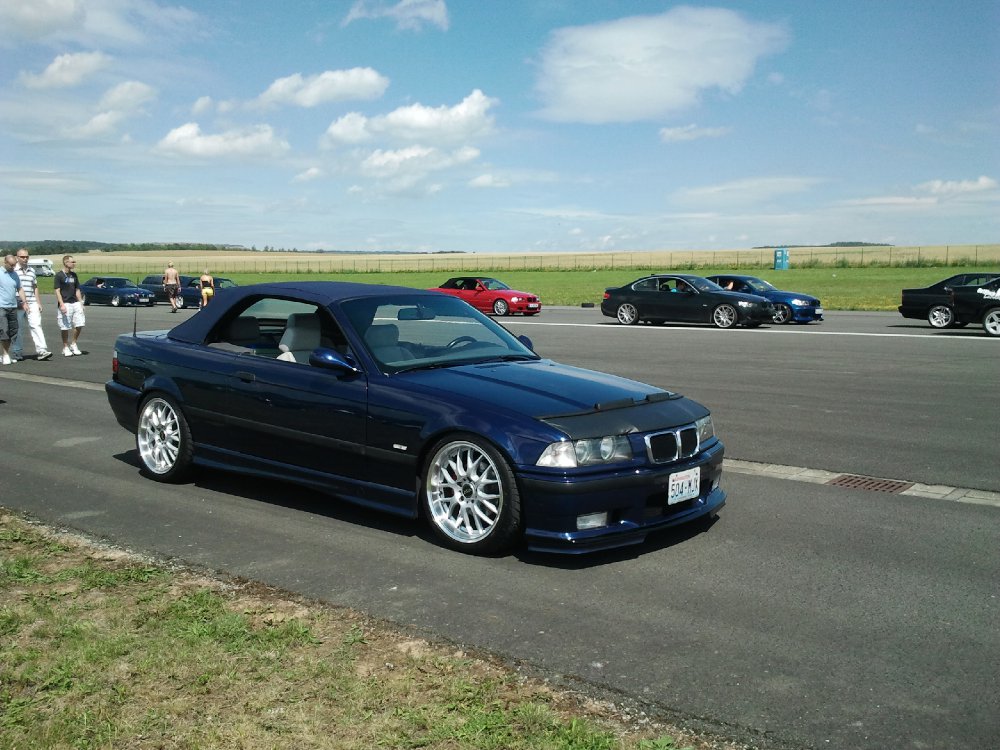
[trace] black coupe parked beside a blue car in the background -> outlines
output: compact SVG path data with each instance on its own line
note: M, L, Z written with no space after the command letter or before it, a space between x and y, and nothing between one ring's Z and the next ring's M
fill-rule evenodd
M774 307L763 297L727 292L706 278L689 274L654 274L606 289L601 312L626 326L648 321L755 328L774 318Z

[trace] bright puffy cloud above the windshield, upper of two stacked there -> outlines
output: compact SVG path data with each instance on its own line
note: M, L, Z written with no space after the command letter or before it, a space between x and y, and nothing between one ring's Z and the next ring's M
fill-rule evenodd
M496 101L476 89L453 107L411 104L373 118L351 112L330 124L324 144L361 143L376 136L430 143L461 142L492 131L489 110Z

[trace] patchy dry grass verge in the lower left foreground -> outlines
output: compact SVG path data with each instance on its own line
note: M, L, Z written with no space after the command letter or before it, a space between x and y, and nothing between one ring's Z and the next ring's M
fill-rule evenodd
M0 748L736 748L0 509Z

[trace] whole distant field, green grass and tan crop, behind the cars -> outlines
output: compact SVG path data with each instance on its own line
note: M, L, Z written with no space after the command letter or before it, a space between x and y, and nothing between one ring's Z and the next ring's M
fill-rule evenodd
M1000 271L1000 245L791 248L789 254L792 268L786 271L772 270L770 250L523 256L178 251L169 256L89 253L75 257L84 278L101 273L139 279L161 272L168 260L181 273L199 274L209 268L238 284L327 279L425 288L438 286L449 276L482 273L538 294L543 305L573 306L599 303L605 288L650 272L688 271L708 276L738 270L779 288L819 297L831 310L895 310L905 287L926 286L965 271Z

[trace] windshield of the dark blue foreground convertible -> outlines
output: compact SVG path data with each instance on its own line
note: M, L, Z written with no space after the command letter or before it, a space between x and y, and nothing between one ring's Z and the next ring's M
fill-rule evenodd
M454 297L362 298L345 302L343 309L386 373L539 359L501 325Z

